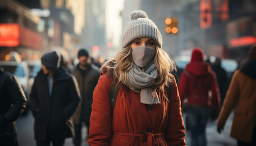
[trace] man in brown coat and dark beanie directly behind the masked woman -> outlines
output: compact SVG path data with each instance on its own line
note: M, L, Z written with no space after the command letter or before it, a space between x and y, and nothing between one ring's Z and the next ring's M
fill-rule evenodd
M75 127L75 137L74 145L81 145L81 130L82 125L85 124L87 127L87 136L89 134L90 127L90 116L91 116L91 103L93 103L93 91L98 83L99 72L91 65L90 55L85 49L80 49L77 57L79 59L79 64L73 70L73 74L77 79L79 90L82 97L82 105L76 109L73 115L74 127Z

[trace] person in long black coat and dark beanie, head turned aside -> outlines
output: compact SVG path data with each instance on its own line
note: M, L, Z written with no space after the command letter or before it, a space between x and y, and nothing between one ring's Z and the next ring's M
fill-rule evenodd
M37 145L63 145L74 137L71 116L80 102L76 78L60 66L60 55L48 52L41 57L41 71L32 86L31 111L35 117Z

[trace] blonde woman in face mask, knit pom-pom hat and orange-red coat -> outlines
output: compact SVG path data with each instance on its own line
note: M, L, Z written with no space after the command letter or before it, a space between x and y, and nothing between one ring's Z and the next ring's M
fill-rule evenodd
M116 58L101 68L93 92L88 144L186 145L175 66L145 12L132 13ZM111 85L118 90L110 108ZM170 88L165 88L165 86ZM168 98L166 89L171 90Z

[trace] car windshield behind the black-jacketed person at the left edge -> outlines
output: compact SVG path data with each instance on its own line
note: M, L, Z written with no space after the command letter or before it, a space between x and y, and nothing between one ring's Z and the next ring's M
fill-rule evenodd
M18 66L4 65L1 67L4 69L4 71L10 72L11 74L14 74L16 77L25 77L24 68L21 65L18 65Z

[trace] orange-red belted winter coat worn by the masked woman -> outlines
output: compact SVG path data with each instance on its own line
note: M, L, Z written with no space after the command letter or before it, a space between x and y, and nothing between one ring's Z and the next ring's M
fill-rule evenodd
M174 80L173 75L171 75ZM158 93L159 104L140 102L140 94L120 89L113 115L110 108L112 78L101 75L93 92L88 144L93 145L185 145L185 127L176 82L168 102ZM167 95L167 94L166 94Z

